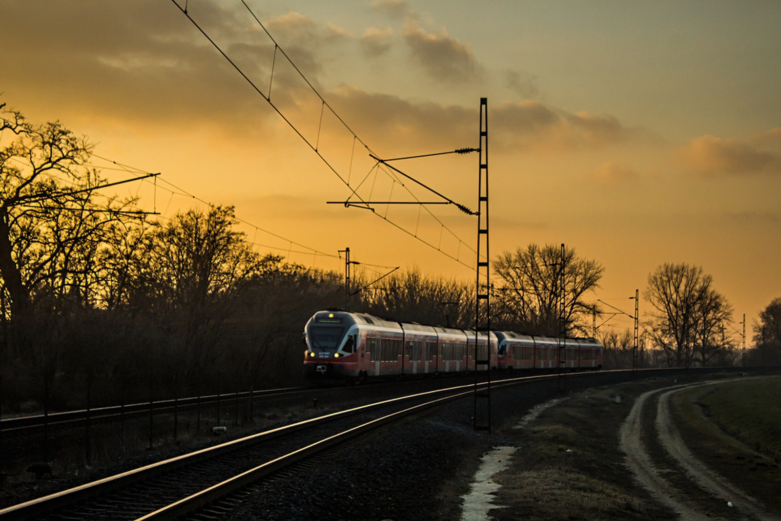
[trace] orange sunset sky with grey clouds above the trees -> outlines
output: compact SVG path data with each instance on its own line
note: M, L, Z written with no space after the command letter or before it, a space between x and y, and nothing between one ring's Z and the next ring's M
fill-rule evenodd
M736 329L781 296L781 3L245 2L349 130L241 0L187 12L364 200L437 200L364 145L383 158L476 147L485 97L492 255L565 243L604 266L593 298L629 313L656 266L697 264ZM162 173L120 189L145 209L200 204L186 192L235 205L259 251L294 262L342 269L306 248L349 246L360 262L474 278L476 220L453 206L326 205L351 189L170 0L0 0L0 48L0 102ZM476 154L394 165L476 209Z

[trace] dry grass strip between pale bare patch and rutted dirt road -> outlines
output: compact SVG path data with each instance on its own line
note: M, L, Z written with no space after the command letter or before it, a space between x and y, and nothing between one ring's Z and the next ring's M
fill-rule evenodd
M491 515L510 519L660 519L667 512L636 484L618 448L619 426L647 384L589 390L547 409L528 426L502 434L520 445Z

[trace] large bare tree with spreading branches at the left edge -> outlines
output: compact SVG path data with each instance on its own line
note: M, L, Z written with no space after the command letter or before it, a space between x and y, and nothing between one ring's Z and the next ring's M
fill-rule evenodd
M11 315L34 302L69 298L90 305L99 293L98 251L132 201L103 198L92 145L59 122L34 125L0 105L0 275Z

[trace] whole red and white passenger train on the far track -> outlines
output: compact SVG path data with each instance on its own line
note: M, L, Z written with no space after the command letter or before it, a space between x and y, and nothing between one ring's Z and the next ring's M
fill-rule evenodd
M363 380L374 376L465 373L475 369L475 332L392 322L365 313L320 311L304 328L305 375ZM559 339L512 331L478 337L480 360L491 369L558 369ZM602 344L564 338L564 367L601 369ZM490 358L487 357L487 351Z

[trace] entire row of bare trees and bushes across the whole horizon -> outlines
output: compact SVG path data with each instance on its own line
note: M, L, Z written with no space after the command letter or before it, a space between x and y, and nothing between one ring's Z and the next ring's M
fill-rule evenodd
M107 196L92 145L60 123L2 110L0 406L71 409L301 384L301 333L319 309L469 328L474 281L359 276L253 251L232 207L157 219ZM495 329L591 336L603 267L530 244L492 262ZM697 266L663 265L644 292L643 366L740 363L732 307ZM609 310L607 310L609 311ZM781 299L754 325L751 364L779 364ZM607 328L604 329L607 331ZM600 330L602 331L602 330ZM632 364L629 334L597 332L605 365Z

